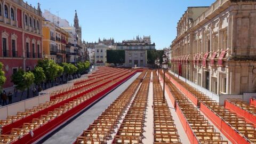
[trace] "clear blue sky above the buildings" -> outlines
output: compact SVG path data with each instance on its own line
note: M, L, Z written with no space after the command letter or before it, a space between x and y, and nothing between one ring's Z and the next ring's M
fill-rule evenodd
M26 2L26 0L24 0ZM115 41L151 36L157 49L171 44L177 22L188 6L209 6L215 0L27 0L74 24L77 10L82 39L86 42L114 37Z

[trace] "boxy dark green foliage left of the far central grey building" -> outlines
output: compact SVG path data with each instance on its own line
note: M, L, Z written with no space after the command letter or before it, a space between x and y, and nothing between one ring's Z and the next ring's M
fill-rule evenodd
M124 63L125 51L124 50L107 50L107 63Z

